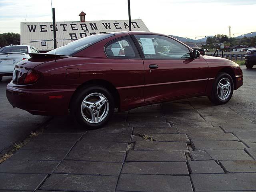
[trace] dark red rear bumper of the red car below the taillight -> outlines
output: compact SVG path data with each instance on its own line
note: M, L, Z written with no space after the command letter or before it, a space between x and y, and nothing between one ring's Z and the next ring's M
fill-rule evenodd
M6 96L12 106L26 110L34 115L59 116L68 114L69 102L74 89L49 88L31 89L12 83L6 88ZM62 98L49 98L49 96Z

